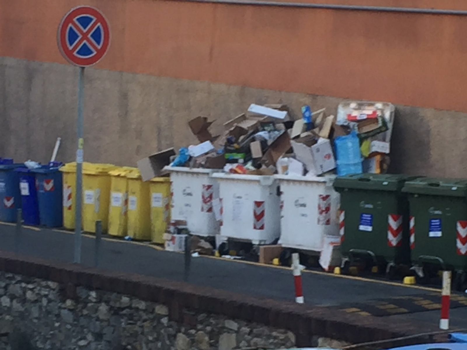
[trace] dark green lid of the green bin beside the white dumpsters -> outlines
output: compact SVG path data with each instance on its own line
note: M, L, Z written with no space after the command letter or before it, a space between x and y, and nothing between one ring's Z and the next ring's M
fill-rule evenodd
M400 191L404 182L418 176L394 174L354 174L338 176L334 180L335 189L367 189L374 191Z

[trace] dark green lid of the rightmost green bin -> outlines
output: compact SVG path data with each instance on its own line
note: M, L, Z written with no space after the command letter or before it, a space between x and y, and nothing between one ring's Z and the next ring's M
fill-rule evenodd
M467 180L423 177L405 182L402 191L420 195L465 197Z

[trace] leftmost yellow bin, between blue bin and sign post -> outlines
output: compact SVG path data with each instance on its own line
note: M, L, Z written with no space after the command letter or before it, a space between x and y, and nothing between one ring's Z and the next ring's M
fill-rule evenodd
M63 173L63 225L68 230L75 228L76 162L67 163Z

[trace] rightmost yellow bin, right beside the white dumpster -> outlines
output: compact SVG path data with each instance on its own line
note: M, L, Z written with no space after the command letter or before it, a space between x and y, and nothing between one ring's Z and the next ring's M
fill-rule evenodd
M163 244L170 224L170 178L155 177L149 181L151 204L151 241Z

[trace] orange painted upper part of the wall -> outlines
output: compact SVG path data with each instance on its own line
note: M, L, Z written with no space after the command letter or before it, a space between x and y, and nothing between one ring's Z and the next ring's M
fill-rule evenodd
M467 10L464 0L308 2ZM78 4L98 7L111 22L101 69L467 112L467 16L0 0L0 56L65 63L56 30Z

